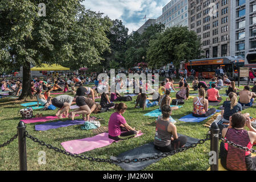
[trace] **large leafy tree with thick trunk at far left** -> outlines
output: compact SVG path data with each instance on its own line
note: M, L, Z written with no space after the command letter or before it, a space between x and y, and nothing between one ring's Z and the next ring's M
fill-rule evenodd
M92 67L109 50L105 34L112 26L109 18L86 10L82 0L44 1L46 16L40 16L40 2L0 1L0 63L23 66L19 99L31 96L31 64Z

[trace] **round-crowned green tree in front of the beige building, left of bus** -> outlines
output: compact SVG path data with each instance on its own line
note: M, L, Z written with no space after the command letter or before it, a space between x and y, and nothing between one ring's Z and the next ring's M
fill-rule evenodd
M151 67L160 68L173 63L178 73L181 61L200 58L200 39L187 27L167 28L155 40L151 40L147 57ZM178 76L178 74L177 74Z

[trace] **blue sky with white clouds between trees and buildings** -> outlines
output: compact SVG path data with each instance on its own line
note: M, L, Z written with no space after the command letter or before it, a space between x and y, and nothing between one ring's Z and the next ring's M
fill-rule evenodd
M162 15L162 8L171 0L85 0L86 9L104 13L110 19L122 20L129 34L138 30L147 19L158 18Z

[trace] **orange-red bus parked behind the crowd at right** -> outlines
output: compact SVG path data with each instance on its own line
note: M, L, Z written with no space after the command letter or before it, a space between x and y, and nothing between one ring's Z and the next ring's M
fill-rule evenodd
M238 67L244 67L245 60L240 56L214 57L212 59L189 60L182 63L182 68L187 69L188 76L191 75L191 69L196 71L196 76L207 79L215 77L217 67L222 67L224 73L234 80L238 77Z

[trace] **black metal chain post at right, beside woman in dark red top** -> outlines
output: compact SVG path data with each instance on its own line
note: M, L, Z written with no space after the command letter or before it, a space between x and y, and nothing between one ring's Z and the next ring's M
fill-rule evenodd
M210 151L216 154L216 163L210 165L210 171L218 171L218 136L220 129L216 122L210 126Z

